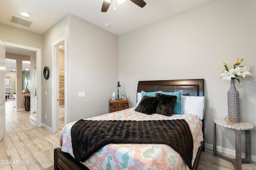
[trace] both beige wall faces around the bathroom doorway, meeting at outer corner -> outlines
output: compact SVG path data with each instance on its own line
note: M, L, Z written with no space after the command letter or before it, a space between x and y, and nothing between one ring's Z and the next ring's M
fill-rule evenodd
M52 70L52 43L67 35L67 122L108 113L110 92L118 81L118 37L67 14L43 35L43 67ZM52 76L43 80L43 123L52 127ZM47 95L45 91L47 90ZM78 92L85 92L78 98ZM66 107L66 106L65 106ZM47 119L45 119L47 115Z

